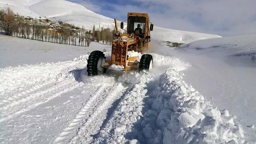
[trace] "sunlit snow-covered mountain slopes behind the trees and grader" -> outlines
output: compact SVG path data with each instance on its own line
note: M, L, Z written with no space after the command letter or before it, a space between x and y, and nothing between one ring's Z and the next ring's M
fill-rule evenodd
M92 29L93 25L114 28L112 18L94 13L84 6L65 0L0 0L0 9L10 7L15 13L24 16L49 18L52 21L65 23ZM152 39L189 43L196 40L220 37L214 34L205 34L189 31L160 28L155 26L151 32Z

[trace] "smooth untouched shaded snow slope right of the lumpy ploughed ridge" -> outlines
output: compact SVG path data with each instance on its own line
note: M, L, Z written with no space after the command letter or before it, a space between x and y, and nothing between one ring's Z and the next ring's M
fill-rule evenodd
M200 40L168 51L191 67L184 80L219 109L236 115L246 139L256 141L256 35Z

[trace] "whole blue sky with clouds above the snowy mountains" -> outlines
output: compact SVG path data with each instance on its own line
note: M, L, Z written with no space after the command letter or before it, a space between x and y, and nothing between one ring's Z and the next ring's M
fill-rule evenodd
M69 0L98 14L125 20L150 15L159 27L222 36L256 34L256 0Z

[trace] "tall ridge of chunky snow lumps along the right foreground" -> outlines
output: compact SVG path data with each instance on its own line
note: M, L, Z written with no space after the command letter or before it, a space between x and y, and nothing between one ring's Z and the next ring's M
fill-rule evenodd
M160 112L156 124L163 130L163 143L245 142L242 127L233 120L236 117L212 106L176 70L167 70L158 84L152 108ZM166 111L171 111L169 119Z

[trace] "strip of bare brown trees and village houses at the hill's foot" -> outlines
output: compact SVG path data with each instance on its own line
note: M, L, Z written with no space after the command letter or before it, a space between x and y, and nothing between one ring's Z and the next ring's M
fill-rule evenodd
M15 15L10 8L0 11L0 29L4 30L6 35L79 46L89 46L92 41L111 44L113 40L113 31L109 28L96 31L94 26L93 31L87 31L62 21L58 23L49 24L42 19L24 18Z

